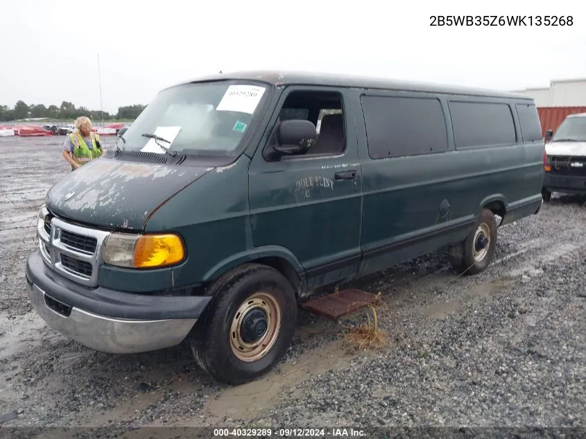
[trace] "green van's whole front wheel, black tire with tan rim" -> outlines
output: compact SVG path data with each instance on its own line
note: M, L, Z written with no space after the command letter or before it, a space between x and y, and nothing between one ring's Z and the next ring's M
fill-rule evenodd
M247 264L211 287L212 302L191 334L196 362L217 381L243 384L271 370L293 341L297 302L274 268Z

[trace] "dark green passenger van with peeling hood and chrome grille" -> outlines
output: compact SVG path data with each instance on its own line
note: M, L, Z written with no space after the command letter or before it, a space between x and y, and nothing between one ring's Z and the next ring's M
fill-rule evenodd
M239 384L282 359L298 302L320 286L436 250L485 270L497 227L540 210L543 180L526 96L200 78L162 90L115 148L48 191L30 299L94 350L185 342L209 375Z

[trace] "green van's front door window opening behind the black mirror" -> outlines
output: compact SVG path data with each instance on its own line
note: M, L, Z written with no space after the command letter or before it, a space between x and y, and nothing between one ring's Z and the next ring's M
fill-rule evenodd
M331 156L343 154L346 150L345 114L342 96L336 92L291 92L279 110L279 121L302 119L316 126L318 141L304 155L285 156L294 160L308 156ZM275 126L275 128L277 128ZM268 143L265 157L274 160L275 151L271 146L277 142L276 130Z

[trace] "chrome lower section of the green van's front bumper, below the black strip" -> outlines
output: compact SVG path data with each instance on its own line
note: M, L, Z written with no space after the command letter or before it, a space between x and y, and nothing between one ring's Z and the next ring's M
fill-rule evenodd
M51 298L34 283L28 296L47 324L82 345L112 354L149 352L178 345L197 321L196 318L130 320L99 316Z

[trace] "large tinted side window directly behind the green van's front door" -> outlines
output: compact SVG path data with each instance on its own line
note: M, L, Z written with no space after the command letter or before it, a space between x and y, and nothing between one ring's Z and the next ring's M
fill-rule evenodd
M447 150L447 128L438 99L361 96L361 104L371 158Z

